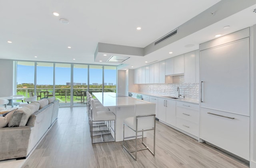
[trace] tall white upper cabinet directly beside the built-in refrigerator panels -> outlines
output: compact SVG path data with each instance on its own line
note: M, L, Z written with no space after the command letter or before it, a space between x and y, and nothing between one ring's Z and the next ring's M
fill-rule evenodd
M184 54L185 83L199 83L199 51Z

